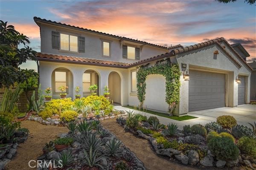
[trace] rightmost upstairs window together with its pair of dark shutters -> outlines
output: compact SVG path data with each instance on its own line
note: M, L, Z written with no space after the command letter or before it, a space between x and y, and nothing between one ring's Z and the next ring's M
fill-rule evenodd
M140 48L123 45L122 47L123 58L140 60Z

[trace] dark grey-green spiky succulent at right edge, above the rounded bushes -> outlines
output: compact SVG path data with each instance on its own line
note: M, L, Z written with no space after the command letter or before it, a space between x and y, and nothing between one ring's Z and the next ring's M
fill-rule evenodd
M244 125L236 125L232 128L231 132L235 138L241 138L242 136L254 136L253 130Z

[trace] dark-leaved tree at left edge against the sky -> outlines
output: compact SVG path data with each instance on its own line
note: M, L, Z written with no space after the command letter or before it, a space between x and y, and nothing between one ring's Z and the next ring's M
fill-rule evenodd
M23 83L38 73L19 66L27 60L35 60L37 52L26 45L29 38L20 34L12 25L0 20L0 88L9 88L14 83ZM18 45L23 44L23 48Z

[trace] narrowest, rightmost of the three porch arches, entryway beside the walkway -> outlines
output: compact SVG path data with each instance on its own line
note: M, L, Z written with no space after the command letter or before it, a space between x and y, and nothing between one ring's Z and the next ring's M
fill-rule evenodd
M110 100L121 104L121 77L116 71L112 71L108 75L108 88L110 90Z

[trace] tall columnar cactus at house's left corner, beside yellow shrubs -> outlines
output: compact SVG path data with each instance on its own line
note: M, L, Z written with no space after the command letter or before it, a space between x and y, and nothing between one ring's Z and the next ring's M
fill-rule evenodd
M35 91L33 91L33 94L31 96L31 101L33 103L33 110L36 113L39 113L40 111L42 111L44 109L44 95L43 95L43 92L41 90L41 84L39 84L39 86L38 86L38 99L37 99L37 101L35 101Z

